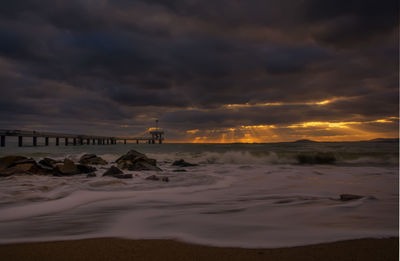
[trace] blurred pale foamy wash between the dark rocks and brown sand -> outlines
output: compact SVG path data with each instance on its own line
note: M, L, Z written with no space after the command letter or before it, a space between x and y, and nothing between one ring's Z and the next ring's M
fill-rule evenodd
M145 180L147 172L132 180L4 179L0 242L107 236L280 247L398 235L397 168L236 162L181 173L161 167L158 175L169 183ZM11 200L19 189L34 191L36 199ZM343 193L365 198L343 202Z

